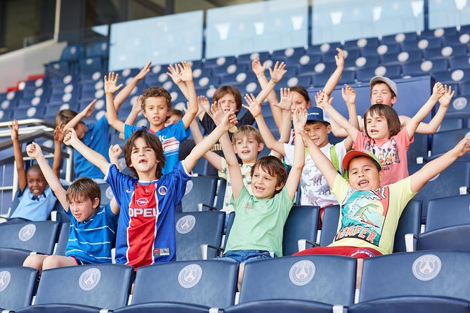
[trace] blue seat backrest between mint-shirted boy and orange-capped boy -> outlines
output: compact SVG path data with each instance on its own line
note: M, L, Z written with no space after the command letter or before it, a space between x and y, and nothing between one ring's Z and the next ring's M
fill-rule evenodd
M318 206L292 206L284 225L282 255L292 255L299 251L297 241L315 241L318 229Z

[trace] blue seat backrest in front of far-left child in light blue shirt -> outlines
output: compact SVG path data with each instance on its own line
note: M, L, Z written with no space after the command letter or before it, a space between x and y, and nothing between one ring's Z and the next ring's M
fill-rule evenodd
M0 247L52 254L58 222L25 222L0 225Z

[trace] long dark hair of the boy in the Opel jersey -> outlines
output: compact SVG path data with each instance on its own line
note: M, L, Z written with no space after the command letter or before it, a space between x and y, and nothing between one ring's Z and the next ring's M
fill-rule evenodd
M165 156L163 154L163 147L162 147L162 142L158 139L156 135L152 135L151 133L148 133L146 128L139 129L138 131L135 131L132 133L131 137L129 137L126 140L126 143L124 143L124 159L126 159L126 165L129 168L129 171L138 178L138 173L135 168L132 166L132 161L131 161L131 154L132 154L132 149L136 147L134 145L134 142L138 138L142 138L145 140L145 143L149 145L149 147L152 148L153 151L155 151L155 156L157 157L157 168L155 170L155 177L159 179L162 177L162 169L165 166Z

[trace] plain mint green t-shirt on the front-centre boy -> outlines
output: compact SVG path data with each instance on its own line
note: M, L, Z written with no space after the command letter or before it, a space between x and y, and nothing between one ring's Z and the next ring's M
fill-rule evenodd
M258 199L243 187L237 199L232 197L235 220L228 237L227 251L264 250L282 256L284 224L294 201L287 188L271 199Z

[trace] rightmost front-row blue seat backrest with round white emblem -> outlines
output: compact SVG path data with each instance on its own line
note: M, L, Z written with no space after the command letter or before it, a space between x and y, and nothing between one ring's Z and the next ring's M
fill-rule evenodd
M406 295L470 300L470 252L419 251L364 260L359 302Z

